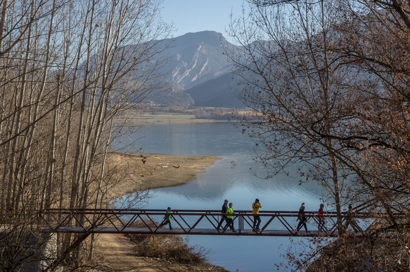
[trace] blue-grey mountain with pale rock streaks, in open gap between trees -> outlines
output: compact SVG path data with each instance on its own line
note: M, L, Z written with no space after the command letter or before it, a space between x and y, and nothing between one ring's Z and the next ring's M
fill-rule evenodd
M171 105L183 101L183 105L188 105L192 98L192 104L198 106L244 107L229 87L232 75L227 74L232 73L232 69L226 55L222 54L221 44L235 46L227 42L221 33L211 30L190 32L166 39L164 44L168 42L172 44L166 53L172 61L162 69L167 74L165 81L179 85L189 97L182 98L180 93L170 89L156 91L150 95L154 104ZM167 93L168 101L160 98L161 93Z

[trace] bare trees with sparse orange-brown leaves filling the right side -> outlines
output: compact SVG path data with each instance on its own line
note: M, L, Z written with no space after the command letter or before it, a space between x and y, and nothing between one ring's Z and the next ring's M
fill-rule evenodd
M314 270L408 269L407 3L249 2L250 17L230 28L241 47L228 56L241 76L237 95L252 109L238 119L268 150L258 157L268 177L305 162L301 174L335 199L337 183L347 190L340 203L387 214L365 239L319 241L288 257L298 269L318 253Z

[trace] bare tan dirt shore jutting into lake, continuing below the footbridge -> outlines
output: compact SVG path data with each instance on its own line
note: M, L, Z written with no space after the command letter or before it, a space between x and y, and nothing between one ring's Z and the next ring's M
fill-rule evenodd
M128 193L147 188L174 187L190 183L195 180L197 173L205 172L206 167L214 165L221 159L218 156L114 153L110 163L124 167L125 174L108 192L107 203ZM159 258L136 256L135 244L125 235L100 234L95 248L98 255L104 256L104 259L118 270L229 272L210 263L187 265L171 263Z

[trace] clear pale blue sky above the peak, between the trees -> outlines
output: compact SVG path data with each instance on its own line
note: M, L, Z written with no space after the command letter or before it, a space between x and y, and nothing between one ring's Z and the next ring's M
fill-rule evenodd
M161 14L163 21L174 22L174 37L203 30L227 37L229 15L232 11L234 16L240 16L242 4L242 0L163 0Z

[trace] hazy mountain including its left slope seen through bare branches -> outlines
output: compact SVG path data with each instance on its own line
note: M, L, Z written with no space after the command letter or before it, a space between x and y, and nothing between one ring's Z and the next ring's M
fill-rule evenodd
M153 41L150 44L124 47L125 52L129 52L129 57L139 50L139 46L141 50L152 46L152 49L161 51L162 56L168 55L171 58L168 65L161 66L160 62L158 70L152 76L152 81L160 80L163 85L148 95L145 103L186 107L195 103L195 106L244 108L229 87L230 82L233 87L236 86L232 80L233 74L231 67L228 66L227 56L221 53L223 51L221 42L235 48L234 45L226 42L221 33L215 31L187 33L172 39ZM170 47L166 49L168 44ZM155 61L156 59L150 59L150 56L142 60L134 69L137 73L135 79L139 78L138 73L146 68L145 65ZM94 58L90 65L95 69L93 62ZM78 73L84 71L82 67ZM165 75L165 78L161 75ZM168 85L165 84L166 82ZM149 81L147 83L150 84ZM136 101L138 101L138 94Z

